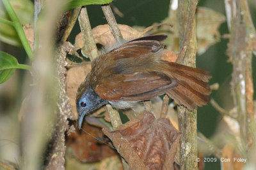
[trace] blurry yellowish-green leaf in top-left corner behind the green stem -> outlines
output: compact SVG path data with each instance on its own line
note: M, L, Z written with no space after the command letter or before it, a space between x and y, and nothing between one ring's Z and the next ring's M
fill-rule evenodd
M30 0L8 0L12 4L13 10L17 14L22 25L33 22L34 5ZM10 20L3 1L0 1L0 18L3 20ZM22 46L19 36L15 28L4 22L0 22L0 41L14 46Z

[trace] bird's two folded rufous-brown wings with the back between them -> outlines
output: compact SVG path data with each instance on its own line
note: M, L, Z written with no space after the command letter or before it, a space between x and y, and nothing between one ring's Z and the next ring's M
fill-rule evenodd
M155 57L166 36L134 39L95 60L92 70L100 79L95 81L95 92L109 101L141 101L164 94L177 86L173 78L154 71ZM108 64L111 63L111 64ZM96 67L97 66L97 67Z

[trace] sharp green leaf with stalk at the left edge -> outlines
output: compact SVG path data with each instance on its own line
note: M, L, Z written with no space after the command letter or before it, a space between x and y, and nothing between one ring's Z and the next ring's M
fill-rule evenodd
M31 67L19 64L18 60L8 53L0 52L0 84L8 80L15 69L31 69Z

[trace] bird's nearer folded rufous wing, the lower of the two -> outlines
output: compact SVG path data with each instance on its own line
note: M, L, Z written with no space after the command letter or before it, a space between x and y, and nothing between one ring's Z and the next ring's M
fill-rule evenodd
M108 83L97 85L95 92L108 101L142 101L164 94L177 83L157 72L116 74Z

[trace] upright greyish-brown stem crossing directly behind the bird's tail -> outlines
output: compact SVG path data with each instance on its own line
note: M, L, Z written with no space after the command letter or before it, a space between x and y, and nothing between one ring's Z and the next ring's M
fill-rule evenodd
M177 62L195 67L196 57L196 29L195 10L198 1L179 1L179 40L180 53ZM179 131L180 138L180 169L197 169L197 128L196 110L189 111L184 106L179 106Z

